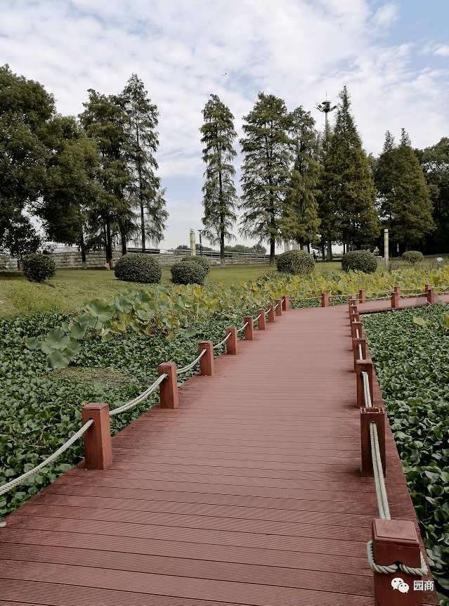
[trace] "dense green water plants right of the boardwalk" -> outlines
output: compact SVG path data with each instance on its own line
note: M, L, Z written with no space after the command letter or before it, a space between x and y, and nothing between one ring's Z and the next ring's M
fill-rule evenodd
M449 604L449 308L361 316L441 604Z

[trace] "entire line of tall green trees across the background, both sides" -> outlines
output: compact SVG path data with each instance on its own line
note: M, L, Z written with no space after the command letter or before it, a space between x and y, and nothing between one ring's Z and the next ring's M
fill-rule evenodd
M223 266L226 250L245 248L229 244L237 210L240 235L259 240L259 252L268 244L271 264L282 241L322 247L323 255L332 243L382 250L384 228L395 253L448 252L448 138L413 150L405 130L398 144L387 131L382 153L367 156L346 86L324 132L301 105L288 111L259 92L243 117L239 198L233 114L211 95L202 115L202 234L219 245ZM143 250L159 243L168 213L156 174L158 116L136 75L117 95L89 89L75 118L59 115L41 84L0 67L0 249L37 249L30 216L49 240L78 245L83 260L91 247L111 262L117 243L123 253L131 239Z

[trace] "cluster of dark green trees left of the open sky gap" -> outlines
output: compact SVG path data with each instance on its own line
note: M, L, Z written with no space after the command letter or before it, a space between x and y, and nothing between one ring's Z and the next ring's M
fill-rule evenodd
M118 95L90 89L77 118L61 116L38 82L0 67L0 247L39 247L46 236L82 250L122 252L130 238L159 243L168 213L156 176L156 105L133 74Z

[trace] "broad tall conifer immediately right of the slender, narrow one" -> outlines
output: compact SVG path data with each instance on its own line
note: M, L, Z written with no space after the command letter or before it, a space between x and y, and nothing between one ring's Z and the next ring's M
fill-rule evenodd
M259 92L254 109L243 117L246 138L240 139L242 165L242 215L240 233L268 240L270 265L275 262L275 243L283 238L283 217L288 212L292 140L292 116L284 101Z

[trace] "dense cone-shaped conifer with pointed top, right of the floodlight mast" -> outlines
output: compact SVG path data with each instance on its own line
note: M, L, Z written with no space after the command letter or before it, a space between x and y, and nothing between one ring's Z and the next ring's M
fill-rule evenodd
M351 245L360 248L372 243L379 235L379 221L375 185L351 115L346 86L339 98L320 189L323 204L330 211L327 223L349 250Z

